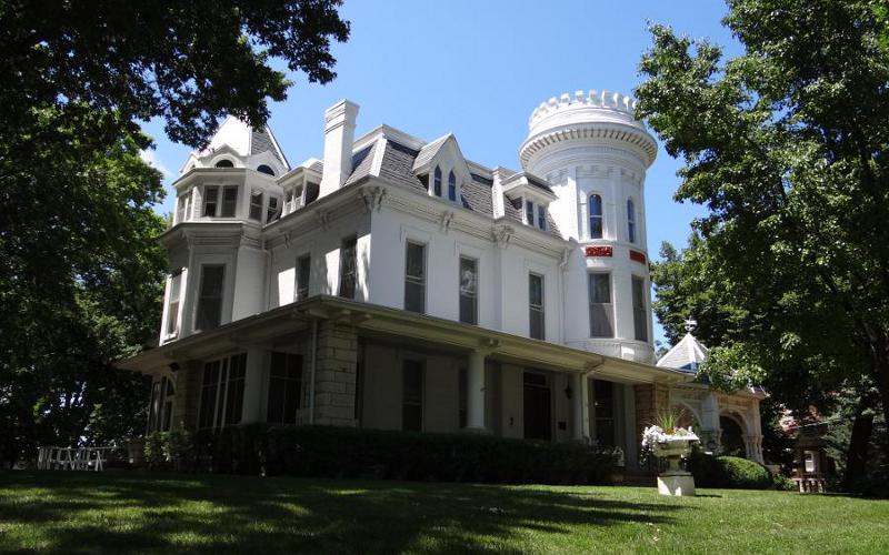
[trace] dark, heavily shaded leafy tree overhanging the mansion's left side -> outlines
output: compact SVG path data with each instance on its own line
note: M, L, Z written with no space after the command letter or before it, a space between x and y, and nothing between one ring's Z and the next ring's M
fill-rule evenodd
M154 335L160 174L139 122L199 147L333 77L338 0L0 3L0 445L120 437L140 381L110 362Z

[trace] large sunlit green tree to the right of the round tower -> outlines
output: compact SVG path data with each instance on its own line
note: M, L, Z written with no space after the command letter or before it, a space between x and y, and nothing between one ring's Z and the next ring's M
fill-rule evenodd
M889 415L886 9L728 7L741 56L655 26L637 90L640 114L685 162L677 199L709 209L690 258L729 310L711 312L723 347L708 372L796 390L799 404L872 383Z

